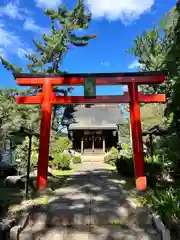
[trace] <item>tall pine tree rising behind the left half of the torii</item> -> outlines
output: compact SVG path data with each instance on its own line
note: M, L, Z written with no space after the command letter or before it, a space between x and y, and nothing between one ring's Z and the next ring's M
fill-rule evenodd
M26 54L25 57L29 61L27 69L31 73L62 73L61 64L65 54L71 46L86 46L90 39L96 37L95 34L78 37L74 31L78 29L87 29L91 21L91 14L85 11L82 1L78 0L72 10L68 10L65 5L44 12L51 20L51 35L43 34L41 41L34 41L36 52ZM12 73L23 72L24 70L5 59L1 58L1 62L7 70ZM39 87L35 91L41 90ZM67 94L72 89L60 89L56 87L54 91L57 94ZM53 111L53 128L57 130L56 114L60 113L61 106L54 106Z

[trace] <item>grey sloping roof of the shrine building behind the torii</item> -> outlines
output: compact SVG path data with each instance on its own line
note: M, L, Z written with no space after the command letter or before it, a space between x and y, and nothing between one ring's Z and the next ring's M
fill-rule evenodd
M123 113L118 104L76 106L73 113L74 122L70 130L116 129L117 124L124 123Z

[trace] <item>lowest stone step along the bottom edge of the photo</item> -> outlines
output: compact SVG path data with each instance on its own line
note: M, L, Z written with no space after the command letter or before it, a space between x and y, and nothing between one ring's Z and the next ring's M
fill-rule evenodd
M71 228L45 228L36 232L32 228L23 231L19 240L160 240L151 229L131 229L116 226L75 226Z

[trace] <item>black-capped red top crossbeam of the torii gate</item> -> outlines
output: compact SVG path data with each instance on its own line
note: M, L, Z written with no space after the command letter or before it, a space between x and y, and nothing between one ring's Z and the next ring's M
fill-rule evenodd
M161 84L164 82L162 72L132 73L75 73L75 74L14 74L16 82L21 86L43 85L44 79L51 79L51 85L77 86L83 85L85 78L95 78L96 85L126 85L134 81L138 85Z

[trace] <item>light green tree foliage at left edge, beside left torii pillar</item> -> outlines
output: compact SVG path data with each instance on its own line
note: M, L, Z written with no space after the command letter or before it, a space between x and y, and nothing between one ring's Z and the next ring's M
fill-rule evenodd
M29 94L31 91L20 92L16 89L0 89L0 141L5 141L11 132L12 141L16 142L16 132L21 127L37 133L40 120L40 106L18 105L15 97L18 94Z

